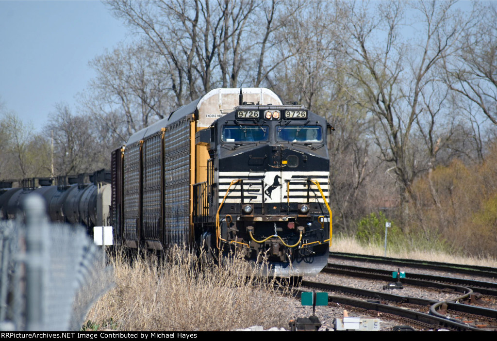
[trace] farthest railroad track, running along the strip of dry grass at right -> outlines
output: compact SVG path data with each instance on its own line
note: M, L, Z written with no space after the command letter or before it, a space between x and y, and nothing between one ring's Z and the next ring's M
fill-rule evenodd
M418 261L412 259L397 259L381 256L368 256L359 254L349 254L342 252L331 252L330 258L344 259L349 261L371 262L381 264L391 264L399 267L411 267L418 269L430 269L446 272L466 273L475 276L485 276L497 278L497 268L481 267L473 265L449 264L440 262Z

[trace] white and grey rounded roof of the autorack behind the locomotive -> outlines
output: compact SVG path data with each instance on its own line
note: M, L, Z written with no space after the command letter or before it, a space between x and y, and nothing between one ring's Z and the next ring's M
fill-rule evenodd
M147 136L151 136L157 132L160 132L162 128L165 128L167 126L169 126L171 123L173 122L176 122L178 120L180 120L181 118L187 116L187 115L191 115L193 113L195 113L197 110L200 110L201 107L208 107L209 105L212 105L212 103L208 103L208 101L212 98L215 98L215 96L219 96L219 100L215 100L214 102L219 102L218 104L216 104L216 108L217 109L212 109L213 111L211 112L211 108L208 109L208 111L212 114L215 114L217 115L218 117L222 117L223 114L220 114L222 112L223 109L226 109L229 107L229 110L232 111L234 109L234 107L236 105L233 105L233 106L230 106L229 104L226 103L226 100L222 99L222 95L235 95L236 98L237 98L237 104L238 104L238 96L239 95L242 95L244 96L244 98L247 97L247 99L252 99L253 98L257 98L257 100L259 100L260 98L260 102L262 103L263 101L271 101L272 103L275 103L274 101L276 101L276 104L281 104L281 101L279 100L278 96L272 92L271 90L269 89L266 89L266 88L218 88L218 89L213 89L211 91L209 91L208 93L206 93L205 95L197 98L196 100L188 103L188 104L185 104L181 107L179 107L178 109L172 111L169 115L167 115L165 118L163 118L162 120L159 120L157 121L156 123L154 123L153 125L151 126L148 126L138 132L136 132L135 134L133 134L132 136L130 136L130 138L128 139L128 141L126 142L127 145L130 145L132 143L135 143L135 142L138 142L144 138L146 138ZM251 96L251 97L250 97ZM233 100L233 98L232 98ZM223 103L225 102L225 103ZM225 108L223 108L225 107ZM215 111L215 113L214 113ZM202 121L203 118L200 118L200 121ZM212 118L211 120L214 120L214 118ZM200 122L197 122L198 124L200 124ZM210 125L209 122L207 123L204 123L204 126L208 127Z

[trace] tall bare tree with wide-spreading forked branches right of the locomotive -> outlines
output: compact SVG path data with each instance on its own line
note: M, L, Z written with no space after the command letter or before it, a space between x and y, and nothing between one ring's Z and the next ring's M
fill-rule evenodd
M382 3L378 15L357 3L347 5L350 21L343 29L352 39L344 41L349 62L342 67L362 90L363 97L357 103L371 114L372 133L382 159L395 166L406 221L405 204L415 200L412 184L423 171L413 135L422 127L419 122L424 121L426 112L431 112L429 120L438 112L427 106L440 104L423 102L423 98L433 91L435 67L457 51L455 43L471 22L454 13L453 2L409 2L407 5L419 14L419 21L411 27L421 27L421 32L417 45L408 49L400 32L405 3ZM434 125L424 127L429 130Z

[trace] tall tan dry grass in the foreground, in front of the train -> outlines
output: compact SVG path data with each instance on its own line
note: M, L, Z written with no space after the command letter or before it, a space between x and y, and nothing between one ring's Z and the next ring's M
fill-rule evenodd
M167 261L113 257L116 286L87 315L99 329L122 331L228 331L253 325L285 327L291 312L272 283L246 276L247 263L198 266L198 257L175 248Z

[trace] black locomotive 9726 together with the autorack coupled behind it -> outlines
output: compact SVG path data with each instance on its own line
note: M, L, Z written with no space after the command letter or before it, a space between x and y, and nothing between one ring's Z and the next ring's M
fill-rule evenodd
M128 247L203 245L319 273L331 244L330 126L265 88L215 89L112 154L111 218Z

